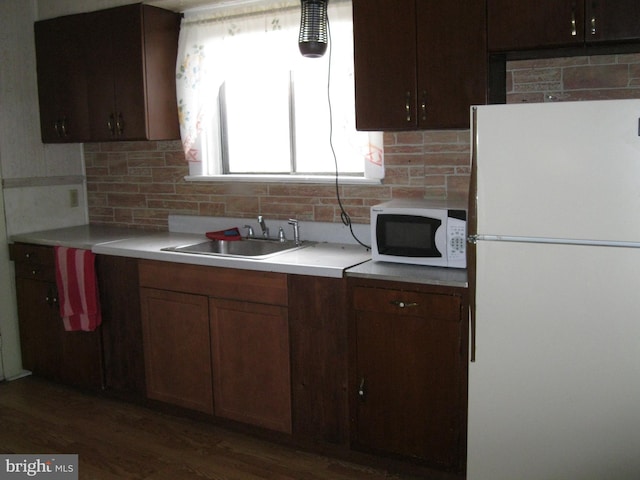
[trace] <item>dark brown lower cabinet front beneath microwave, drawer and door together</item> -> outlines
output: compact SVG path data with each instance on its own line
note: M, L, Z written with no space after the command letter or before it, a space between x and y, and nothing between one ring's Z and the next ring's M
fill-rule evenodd
M354 446L463 465L461 299L357 288Z

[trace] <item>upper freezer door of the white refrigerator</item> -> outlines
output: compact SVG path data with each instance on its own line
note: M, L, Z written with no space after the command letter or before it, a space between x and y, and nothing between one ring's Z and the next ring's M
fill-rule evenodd
M478 234L640 241L640 100L476 115Z

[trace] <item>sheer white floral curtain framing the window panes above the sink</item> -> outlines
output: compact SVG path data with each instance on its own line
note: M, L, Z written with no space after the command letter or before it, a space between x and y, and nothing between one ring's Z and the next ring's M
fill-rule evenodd
M253 7L255 10L256 7ZM264 10L264 9L263 9ZM341 82L353 89L353 41L351 38L351 2L340 1L329 3L328 15L330 25L346 21L349 25L348 38L343 29L339 40L334 38L332 28L332 45L334 49L348 49L348 61L340 61L345 55L332 55L331 61L331 90ZM176 86L178 111L180 116L181 139L189 162L189 174L192 176L220 175L221 139L218 115L218 94L220 87L228 80L230 71L238 70L239 62L246 62L252 58L247 75L260 76L260 72L274 70L293 72L296 81L304 85L304 76L309 68L303 61L313 62L314 68L319 62L328 62L328 55L322 59L303 59L297 44L297 32L300 22L300 5L296 7L269 8L262 12L244 12L243 14L228 14L227 12L210 12L208 14L185 15L180 30L178 60L176 66ZM338 30L338 29L337 29ZM264 35L264 41L256 41L255 32ZM251 32L251 35L245 34ZM338 41L340 43L338 43ZM274 52L277 52L274 54ZM344 50L340 53L344 53ZM324 90L316 92L314 97L326 99L326 72L324 68ZM250 72L250 73L249 73ZM298 87L296 86L296 89ZM297 95L297 92L296 92ZM344 98L344 97L342 97ZM299 100L296 99L296 108ZM326 101L325 101L326 103ZM353 110L349 118L343 113L342 102L333 104L333 128L355 128L353 124ZM353 100L350 100L352 106ZM247 132L260 128L247 117ZM327 117L328 123L328 117ZM296 132L297 134L299 132ZM384 156L382 133L358 132L353 135L357 145L351 145L364 164L365 177L383 178ZM304 141L297 139L298 143ZM304 145L301 152L304 152ZM337 149L337 148L336 148Z

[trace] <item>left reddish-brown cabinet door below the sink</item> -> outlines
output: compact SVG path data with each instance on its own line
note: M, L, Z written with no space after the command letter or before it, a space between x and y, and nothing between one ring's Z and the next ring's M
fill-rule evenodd
M147 396L213 413L207 297L142 288L140 301Z

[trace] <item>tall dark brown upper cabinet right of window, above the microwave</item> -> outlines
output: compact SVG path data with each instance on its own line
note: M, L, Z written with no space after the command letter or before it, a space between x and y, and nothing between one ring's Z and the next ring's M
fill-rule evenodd
M486 103L485 2L353 0L358 130L468 128Z

